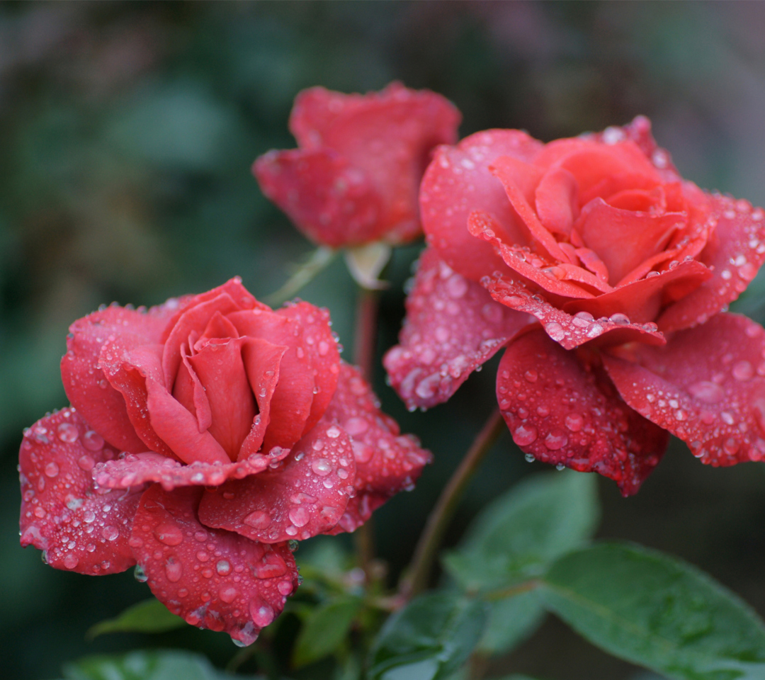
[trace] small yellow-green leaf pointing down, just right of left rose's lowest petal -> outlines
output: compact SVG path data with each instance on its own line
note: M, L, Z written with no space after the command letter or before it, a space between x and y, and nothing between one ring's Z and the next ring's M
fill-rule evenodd
M340 597L311 611L295 643L293 664L306 665L338 649L361 605L358 597Z

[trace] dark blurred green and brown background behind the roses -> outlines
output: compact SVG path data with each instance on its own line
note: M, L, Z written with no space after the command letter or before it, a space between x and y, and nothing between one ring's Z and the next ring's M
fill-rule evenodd
M756 2L0 4L4 677L54 678L67 659L138 647L197 649L221 666L236 651L223 633L190 628L87 642L90 626L145 599L148 588L132 572L68 574L42 564L39 551L22 551L16 456L21 429L67 404L58 362L74 319L112 300L157 304L236 274L262 297L308 255L311 244L249 172L257 155L295 145L287 119L298 90L363 92L402 80L450 98L464 114L463 136L507 127L549 141L643 113L685 177L763 205L763 32L765 3ZM380 353L395 343L402 285L421 247L399 250L389 268ZM763 283L737 303L760 322ZM355 288L341 260L301 297L329 307L352 347ZM417 489L376 513L391 578L496 403L495 368L474 374L448 404L409 414L378 366L383 407L435 453ZM448 542L487 500L543 468L503 435ZM601 480L599 535L685 558L765 615L763 490L763 466L704 467L674 441L638 496L622 499ZM648 678L552 617L490 671ZM324 675L314 667L301 677Z

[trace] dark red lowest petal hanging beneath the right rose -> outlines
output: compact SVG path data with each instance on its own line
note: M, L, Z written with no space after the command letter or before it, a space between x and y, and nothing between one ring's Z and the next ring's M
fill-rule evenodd
M624 496L640 488L664 453L666 432L619 399L613 386L540 330L507 348L496 395L513 440L545 463L597 472Z

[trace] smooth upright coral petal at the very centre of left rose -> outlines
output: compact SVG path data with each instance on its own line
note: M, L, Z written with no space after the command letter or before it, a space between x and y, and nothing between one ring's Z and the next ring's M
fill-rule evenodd
M197 353L189 362L210 403L212 421L208 431L229 458L236 460L257 412L242 359L246 340L202 342L197 343Z

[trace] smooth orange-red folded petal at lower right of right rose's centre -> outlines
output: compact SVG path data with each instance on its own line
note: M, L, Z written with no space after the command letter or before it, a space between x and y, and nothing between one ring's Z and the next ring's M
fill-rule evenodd
M653 321L662 307L681 299L702 285L711 272L701 262L670 262L671 268L640 281L614 288L590 300L572 300L562 305L569 314L587 311L596 317L626 314L639 324Z

